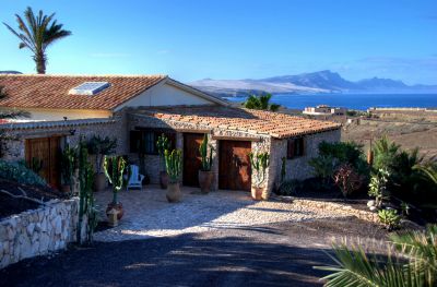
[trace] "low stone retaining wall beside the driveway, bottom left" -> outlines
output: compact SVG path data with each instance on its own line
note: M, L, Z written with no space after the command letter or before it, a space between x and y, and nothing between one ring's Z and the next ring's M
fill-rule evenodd
M75 241L79 199L48 202L0 222L0 268L67 248ZM85 238L86 218L82 227Z

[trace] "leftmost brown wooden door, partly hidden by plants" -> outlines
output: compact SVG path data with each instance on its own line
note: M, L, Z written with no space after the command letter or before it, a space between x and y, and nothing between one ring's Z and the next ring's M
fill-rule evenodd
M26 140L25 157L27 166L40 163L39 176L54 188L60 187L60 136Z

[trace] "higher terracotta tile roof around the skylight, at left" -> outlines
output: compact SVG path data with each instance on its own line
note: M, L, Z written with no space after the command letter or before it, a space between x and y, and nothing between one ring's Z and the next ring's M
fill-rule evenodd
M4 86L8 94L0 99L0 107L111 110L166 77L0 74L0 86ZM84 82L108 82L110 86L93 96L69 94Z

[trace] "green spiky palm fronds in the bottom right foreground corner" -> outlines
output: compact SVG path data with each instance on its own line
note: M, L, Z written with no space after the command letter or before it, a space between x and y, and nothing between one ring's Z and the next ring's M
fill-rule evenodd
M333 247L334 266L316 266L331 272L324 286L422 287L437 284L437 225L426 231L390 236L388 255L368 255L362 247Z

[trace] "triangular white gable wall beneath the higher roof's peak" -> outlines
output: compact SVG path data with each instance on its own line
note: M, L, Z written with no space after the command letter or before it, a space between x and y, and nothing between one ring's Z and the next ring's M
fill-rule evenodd
M167 83L157 84L117 107L117 110L125 107L151 107L151 106L197 106L214 105L211 100L188 93L181 88Z

